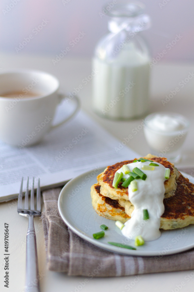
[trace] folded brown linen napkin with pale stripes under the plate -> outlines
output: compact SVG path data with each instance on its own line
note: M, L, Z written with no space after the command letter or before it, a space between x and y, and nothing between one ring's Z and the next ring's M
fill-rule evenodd
M194 174L194 168L181 171ZM165 256L165 252L157 257L124 256L83 240L60 217L60 190L55 188L43 192L45 213L42 214L42 223L49 270L91 279L194 269L194 249L172 256Z

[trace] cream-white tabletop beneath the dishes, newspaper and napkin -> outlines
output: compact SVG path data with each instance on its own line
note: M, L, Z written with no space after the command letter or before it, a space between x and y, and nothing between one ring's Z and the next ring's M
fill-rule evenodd
M1 55L1 68L31 68L50 72L59 78L61 89L66 92L73 91L74 87L83 84L82 80L91 73L90 60L83 59L62 59L55 66L52 63L52 56L32 57L19 55ZM192 71L193 70L193 71ZM184 64L158 64L152 68L151 95L152 103L150 111L171 111L179 112L188 117L191 123L190 131L183 146L184 157L177 166L194 167L194 115L193 115L193 91L194 78L186 83L183 88L164 106L161 100L165 95L169 95L171 90L179 86L179 82L184 80L189 72L194 72L194 66ZM110 133L120 141L126 138L131 131L138 127L141 120L116 122L103 119L94 114L91 110L91 81L84 85L78 93L82 108L99 124L106 128ZM149 153L149 147L145 142L143 130L138 131L134 138L127 144L129 147L139 152L140 155ZM9 201L0 204L0 234L4 234L4 223L9 224L9 288L4 287L4 239L0 240L0 291L20 292L24 291L25 283L25 250L26 250L26 232L28 220L17 213L17 201ZM45 243L42 222L40 218L35 218L35 229L38 243L38 259L40 272L40 288L42 292L171 292L171 291L193 291L194 273L193 271L181 271L170 273L144 274L138 277L114 277L114 278L93 278L84 285L84 279L87 277L68 277L63 273L50 272L46 269ZM187 275L190 275L187 277ZM187 280L189 279L189 280ZM184 286L181 285L184 282ZM135 284L134 284L135 283ZM81 285L83 284L83 285ZM182 286L182 287L181 287ZM82 288L81 288L82 287ZM130 288L131 287L131 288Z

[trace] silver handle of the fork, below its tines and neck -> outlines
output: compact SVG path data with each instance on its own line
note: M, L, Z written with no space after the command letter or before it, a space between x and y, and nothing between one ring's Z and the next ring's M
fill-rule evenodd
M38 257L34 216L29 215L29 225L26 237L26 286L25 292L40 292L38 277Z

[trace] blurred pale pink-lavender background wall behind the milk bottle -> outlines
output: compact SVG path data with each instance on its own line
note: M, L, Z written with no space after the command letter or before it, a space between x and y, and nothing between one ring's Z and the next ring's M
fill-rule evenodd
M66 58L91 57L95 44L107 32L108 17L99 15L110 1L98 0L2 0L0 3L0 46L2 52L56 55L70 46ZM119 2L119 0L117 1ZM192 0L149 0L146 5L152 27L144 32L152 58L168 43L180 40L164 55L163 61L193 62L194 2ZM43 22L43 25L42 25ZM79 38L80 32L85 34ZM29 38L29 35L32 37ZM26 41L21 50L19 43ZM28 39L29 38L29 39ZM78 39L79 38L79 39ZM25 44L25 42L24 42Z

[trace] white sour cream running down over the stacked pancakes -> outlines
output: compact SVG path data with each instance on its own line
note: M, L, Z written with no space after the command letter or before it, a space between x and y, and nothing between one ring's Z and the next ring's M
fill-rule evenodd
M155 163L155 161L154 161ZM156 162L159 166L155 166L154 170L143 170L143 165L149 165L150 161L137 161L127 164L130 171L138 167L147 175L146 180L136 179L138 190L132 192L131 185L128 187L129 201L134 205L134 211L122 228L122 234L129 239L135 239L141 235L145 241L151 241L159 238L161 232L160 217L164 213L164 194L165 187L165 171L166 168ZM122 168L117 172L120 173ZM122 171L123 172L123 171ZM123 172L124 173L124 172ZM123 178L128 178L128 174L124 174ZM149 219L143 219L143 209L147 209Z

